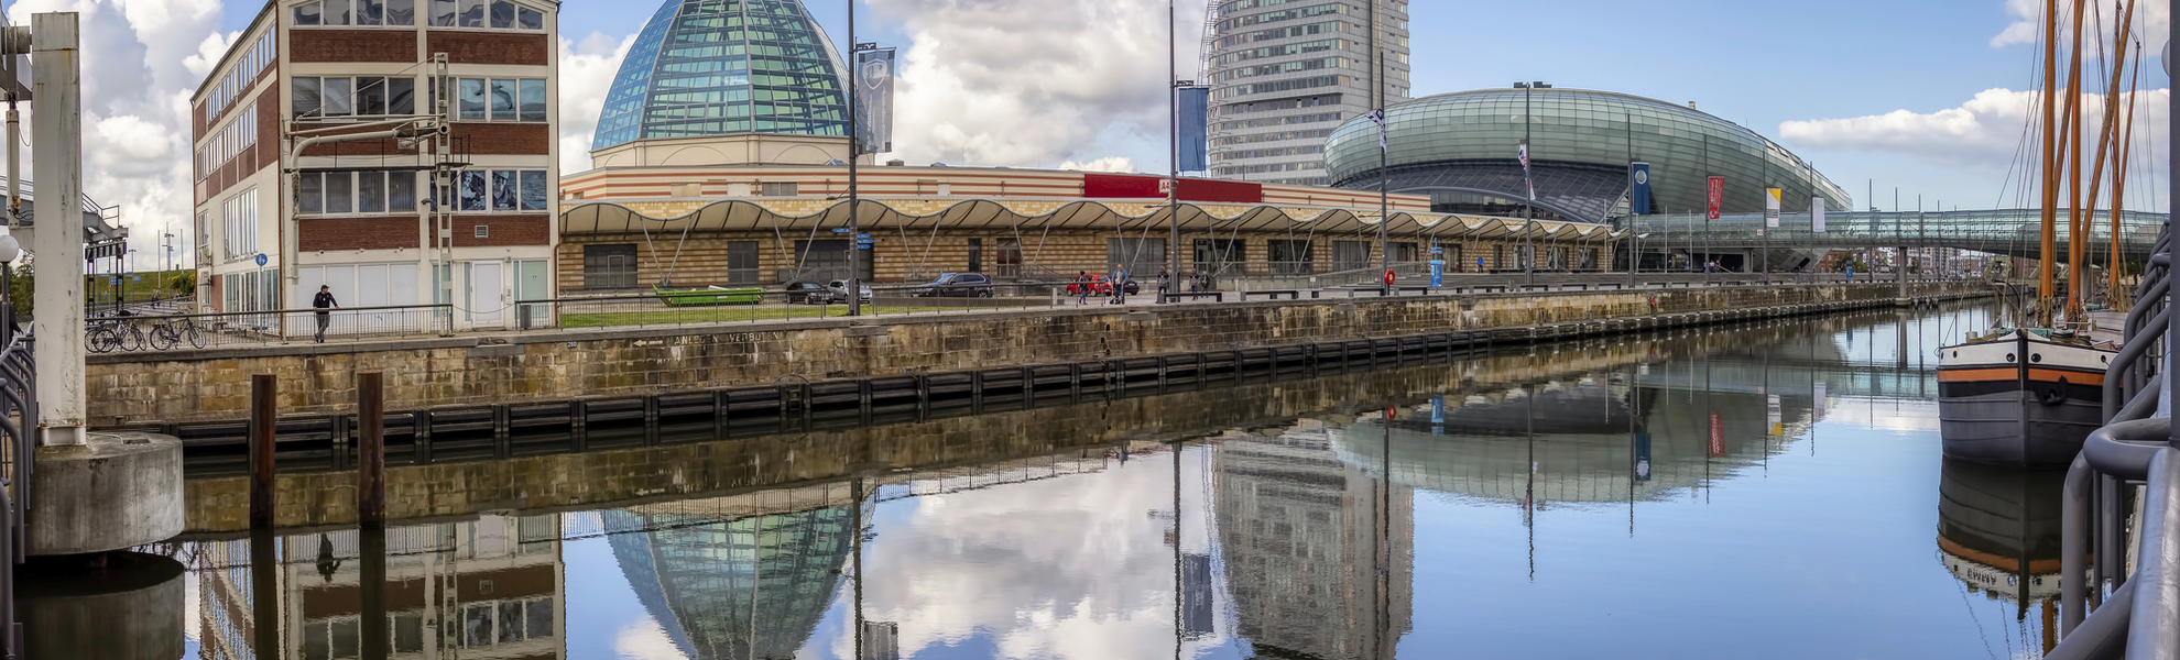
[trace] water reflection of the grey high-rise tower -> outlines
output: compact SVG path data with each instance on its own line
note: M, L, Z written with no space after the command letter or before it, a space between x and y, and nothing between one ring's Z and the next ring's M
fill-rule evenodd
M1238 634L1264 658L1391 658L1410 623L1413 490L1343 464L1315 420L1216 447Z

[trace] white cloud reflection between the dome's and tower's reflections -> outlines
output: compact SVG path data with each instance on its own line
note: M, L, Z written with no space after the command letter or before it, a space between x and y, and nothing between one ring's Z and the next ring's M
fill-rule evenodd
M979 636L998 658L1171 656L1171 460L887 505L863 616L898 623L903 656ZM1184 499L1184 525L1201 510Z

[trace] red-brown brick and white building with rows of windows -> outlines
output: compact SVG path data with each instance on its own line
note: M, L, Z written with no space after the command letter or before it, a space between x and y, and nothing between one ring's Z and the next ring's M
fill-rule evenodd
M323 283L501 327L552 296L556 20L549 0L268 2L190 98L205 307L310 307Z

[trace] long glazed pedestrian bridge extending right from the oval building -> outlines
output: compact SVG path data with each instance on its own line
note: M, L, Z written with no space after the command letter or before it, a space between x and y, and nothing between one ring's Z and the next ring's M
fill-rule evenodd
M2040 257L2040 211L1995 209L1995 211L1827 211L1825 233L1809 231L1809 213L1781 213L1779 227L1764 231L1761 213L1718 216L1703 220L1703 213L1650 213L1615 220L1622 229L1642 235L1642 250L1648 253L1722 253L1722 250L1820 250L1820 248L1960 248L2008 257ZM2058 213L2058 257L2067 246L2067 213ZM2088 242L2088 261L2108 264L2112 224L2108 211L2095 213L2095 231ZM2123 211L2119 222L2121 257L2126 261L2149 259L2149 246L2165 224L2165 213ZM1685 246L1685 248L1683 248Z

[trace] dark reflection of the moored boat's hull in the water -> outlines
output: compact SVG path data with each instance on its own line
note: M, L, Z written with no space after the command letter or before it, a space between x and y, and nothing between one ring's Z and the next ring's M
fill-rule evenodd
M2008 606L2021 640L2056 643L2064 470L1947 460L1938 481L1938 553L1969 592ZM2034 612L2034 616L2032 616ZM1971 612L1973 616L1973 612Z

